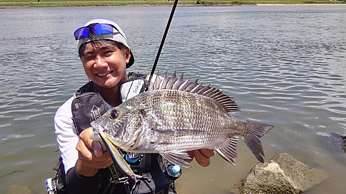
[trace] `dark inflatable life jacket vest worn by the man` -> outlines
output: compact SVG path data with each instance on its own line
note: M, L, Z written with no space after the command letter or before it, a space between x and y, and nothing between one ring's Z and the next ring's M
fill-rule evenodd
M148 81L145 79L147 75L132 72L129 73L128 77L129 80L120 86L122 101L143 93L148 85ZM102 97L100 97L97 90L93 87L92 81L82 86L73 96L75 97L71 104L73 124L79 135L82 133L82 130L91 127L90 123L92 121L106 113L107 107ZM122 151L122 154L124 154L124 158L127 158L127 154L129 153ZM163 173L165 166L158 159L158 154L138 154L138 157L139 160L136 162L125 160L129 163L134 173L151 177L152 181L140 183L135 193L168 193L169 189L170 191L174 191L174 180L170 180ZM66 191L64 189L64 183L66 184L63 175L64 166L61 166L57 184L57 189L60 189L60 192L57 193Z

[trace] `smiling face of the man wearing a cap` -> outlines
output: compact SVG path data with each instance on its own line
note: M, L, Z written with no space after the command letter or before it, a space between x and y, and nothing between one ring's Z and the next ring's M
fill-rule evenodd
M125 52L110 43L86 43L83 55L80 57L86 76L102 88L113 88L121 84L126 75L126 64L131 53Z

